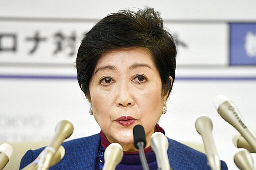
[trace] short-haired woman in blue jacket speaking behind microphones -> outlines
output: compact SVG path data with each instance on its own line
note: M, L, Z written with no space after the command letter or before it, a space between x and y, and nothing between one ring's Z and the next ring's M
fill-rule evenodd
M90 114L101 128L99 134L63 143L66 154L52 170L100 170L104 150L121 144L124 157L118 170L141 170L133 144L133 127L145 129L145 154L150 170L157 169L150 147L157 124L166 113L166 100L175 80L176 47L173 37L152 8L113 13L99 21L84 37L77 54L77 79L91 104ZM205 154L169 140L168 156L173 170L207 170ZM28 151L20 168L33 161L43 148ZM221 162L222 169L227 166Z

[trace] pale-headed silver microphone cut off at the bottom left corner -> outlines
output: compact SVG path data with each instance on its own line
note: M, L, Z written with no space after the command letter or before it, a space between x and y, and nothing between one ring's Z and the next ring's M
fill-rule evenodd
M0 170L2 170L10 160L13 148L10 144L3 143L0 145Z

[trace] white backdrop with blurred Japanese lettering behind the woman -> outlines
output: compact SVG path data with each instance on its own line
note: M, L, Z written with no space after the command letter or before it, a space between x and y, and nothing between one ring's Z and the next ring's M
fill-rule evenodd
M81 35L108 13L128 7L154 7L165 25L186 46L178 46L177 79L167 114L160 119L166 135L178 141L202 142L194 127L202 114L214 125L220 158L236 170L232 137L238 132L213 107L218 94L229 97L255 132L255 66L229 66L229 21L255 22L254 0L0 0L0 34L17 35L17 52L0 52L0 142L47 140L56 124L67 119L75 130L70 139L100 131L75 79L71 48L53 55L54 35ZM36 31L47 38L33 55L27 37ZM6 43L10 43L9 41ZM223 79L219 79L223 77ZM231 79L232 77L236 79ZM254 77L254 79L239 79ZM228 79L229 78L229 79Z

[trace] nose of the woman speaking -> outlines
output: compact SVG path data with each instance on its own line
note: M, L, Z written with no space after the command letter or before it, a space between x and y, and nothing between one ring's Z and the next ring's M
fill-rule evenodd
M116 105L117 106L133 106L134 99L129 89L127 83L123 83L120 87L118 87Z

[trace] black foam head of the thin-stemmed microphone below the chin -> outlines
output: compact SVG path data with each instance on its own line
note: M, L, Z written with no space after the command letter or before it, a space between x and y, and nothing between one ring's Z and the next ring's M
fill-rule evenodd
M139 142L143 142L144 147L146 146L146 135L145 135L144 127L142 125L134 126L133 137L134 137L134 145L137 149L139 149L138 147Z

